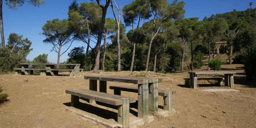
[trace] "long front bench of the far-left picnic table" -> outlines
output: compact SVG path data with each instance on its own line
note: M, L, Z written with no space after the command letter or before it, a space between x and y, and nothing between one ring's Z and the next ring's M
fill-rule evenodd
M58 75L58 71L69 71L69 76L74 76L74 69L51 69L51 68L13 68L15 70L15 74L21 74L21 75L28 75L28 74L34 74L35 71L40 71L41 76L46 75ZM79 75L82 75L84 69L79 69ZM29 72L29 73L28 73Z

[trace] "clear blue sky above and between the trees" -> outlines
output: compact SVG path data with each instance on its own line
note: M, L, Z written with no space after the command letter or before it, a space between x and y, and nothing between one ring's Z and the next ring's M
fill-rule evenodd
M95 0L94 0L95 1ZM103 2L104 0L102 0ZM131 3L132 0L115 0L120 6L125 6ZM181 1L181 0L178 0ZM91 2L91 0L78 0L81 2ZM169 3L172 0L168 0ZM231 12L234 9L237 11L243 11L250 8L249 3L253 2L256 6L256 0L184 0L185 4L185 18L199 17L202 20L205 16L210 17L212 14ZM45 4L40 7L33 7L25 3L23 6L18 7L17 10L8 9L8 6L3 0L3 24L4 24L4 37L5 42L10 33L17 33L23 35L23 38L27 37L31 40L33 51L27 56L27 59L33 60L40 54L48 54L48 61L52 63L57 62L57 53L51 52L51 45L43 43L45 39L44 35L39 35L42 32L42 26L47 20L67 19L68 18L68 6L71 0L45 0ZM253 6L254 7L254 6ZM111 7L108 8L106 18L114 18ZM123 19L121 19L123 21ZM147 22L147 20L143 21ZM131 28L126 28L127 31ZM95 44L91 43L91 47ZM73 42L70 49L60 57L60 62L67 60L68 52L74 47L84 46L86 44L82 42ZM62 51L65 51L66 47L62 47Z

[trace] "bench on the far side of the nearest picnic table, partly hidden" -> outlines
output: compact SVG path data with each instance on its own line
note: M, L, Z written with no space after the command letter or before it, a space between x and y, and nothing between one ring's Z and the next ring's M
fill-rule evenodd
M109 89L113 89L115 95L121 95L121 91L138 93L138 88L124 85L109 86ZM175 93L176 91L158 89L158 95L163 96L164 99L164 110L169 111L169 113L172 113L172 94Z

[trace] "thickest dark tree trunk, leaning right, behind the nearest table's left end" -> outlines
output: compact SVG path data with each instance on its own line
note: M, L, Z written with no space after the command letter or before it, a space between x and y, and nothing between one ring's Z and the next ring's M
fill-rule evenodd
M100 67L100 44L101 44L101 39L102 39L102 33L104 29L104 24L105 24L105 18L106 18L106 13L107 13L107 8L109 6L109 2L106 2L105 7L102 7L102 17L101 17L101 23L100 23L100 28L98 32L98 40L96 43L96 57L95 57L95 65L93 70L99 70Z

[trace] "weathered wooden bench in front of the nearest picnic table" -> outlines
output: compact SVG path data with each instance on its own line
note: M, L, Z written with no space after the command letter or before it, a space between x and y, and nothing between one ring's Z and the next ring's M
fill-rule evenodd
M78 105L79 97L118 106L117 123L122 124L123 128L129 127L130 103L136 102L135 98L86 89L67 89L65 92L71 94L71 106Z

